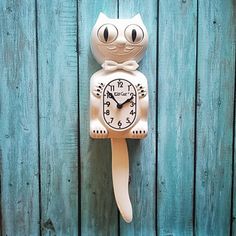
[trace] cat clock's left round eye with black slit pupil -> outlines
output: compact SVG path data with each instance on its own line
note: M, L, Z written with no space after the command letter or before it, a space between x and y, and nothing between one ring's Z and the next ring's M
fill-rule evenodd
M98 38L103 43L113 42L118 35L117 28L112 24L105 24L98 30Z

